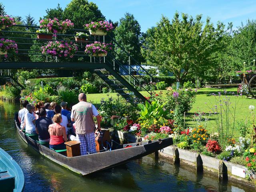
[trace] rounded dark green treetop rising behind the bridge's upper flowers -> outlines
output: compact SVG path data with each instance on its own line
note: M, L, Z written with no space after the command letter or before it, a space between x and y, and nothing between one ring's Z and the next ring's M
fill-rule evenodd
M64 19L74 22L74 28L83 29L84 24L105 20L98 6L88 0L72 0L63 12Z

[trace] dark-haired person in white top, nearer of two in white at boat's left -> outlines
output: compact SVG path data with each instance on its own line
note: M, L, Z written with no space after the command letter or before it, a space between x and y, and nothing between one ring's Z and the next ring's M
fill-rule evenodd
M20 132L23 131L23 129L26 125L26 133L28 133L28 134L37 134L36 133L36 124L35 124L36 118L33 115L33 112L35 110L35 106L32 105L32 104L28 104L27 105L27 110L28 110L28 113L25 114L24 124L23 124L23 127L20 130Z

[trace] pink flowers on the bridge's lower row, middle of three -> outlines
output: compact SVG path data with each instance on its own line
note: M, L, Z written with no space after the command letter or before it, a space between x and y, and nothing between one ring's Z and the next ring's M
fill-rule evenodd
M46 46L42 46L42 54L72 58L77 49L77 46L72 42L50 41Z

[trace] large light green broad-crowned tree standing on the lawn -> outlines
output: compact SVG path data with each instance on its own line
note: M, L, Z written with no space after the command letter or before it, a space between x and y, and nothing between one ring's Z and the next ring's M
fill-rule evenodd
M219 49L219 42L224 32L220 22L217 27L202 15L195 19L188 14L176 12L172 22L162 16L154 28L154 35L146 37L142 46L142 55L148 63L157 66L159 70L168 70L174 74L177 82L191 76L201 76L210 66L214 66L212 56ZM204 26L204 27L203 27Z

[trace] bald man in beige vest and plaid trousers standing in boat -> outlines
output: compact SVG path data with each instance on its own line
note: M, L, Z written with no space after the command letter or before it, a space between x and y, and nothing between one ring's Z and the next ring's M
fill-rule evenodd
M78 95L79 103L72 107L71 120L76 123L76 140L80 142L81 155L86 155L87 152L95 153L95 124L93 116L97 119L98 130L100 131L100 115L96 107L86 102L86 94Z

